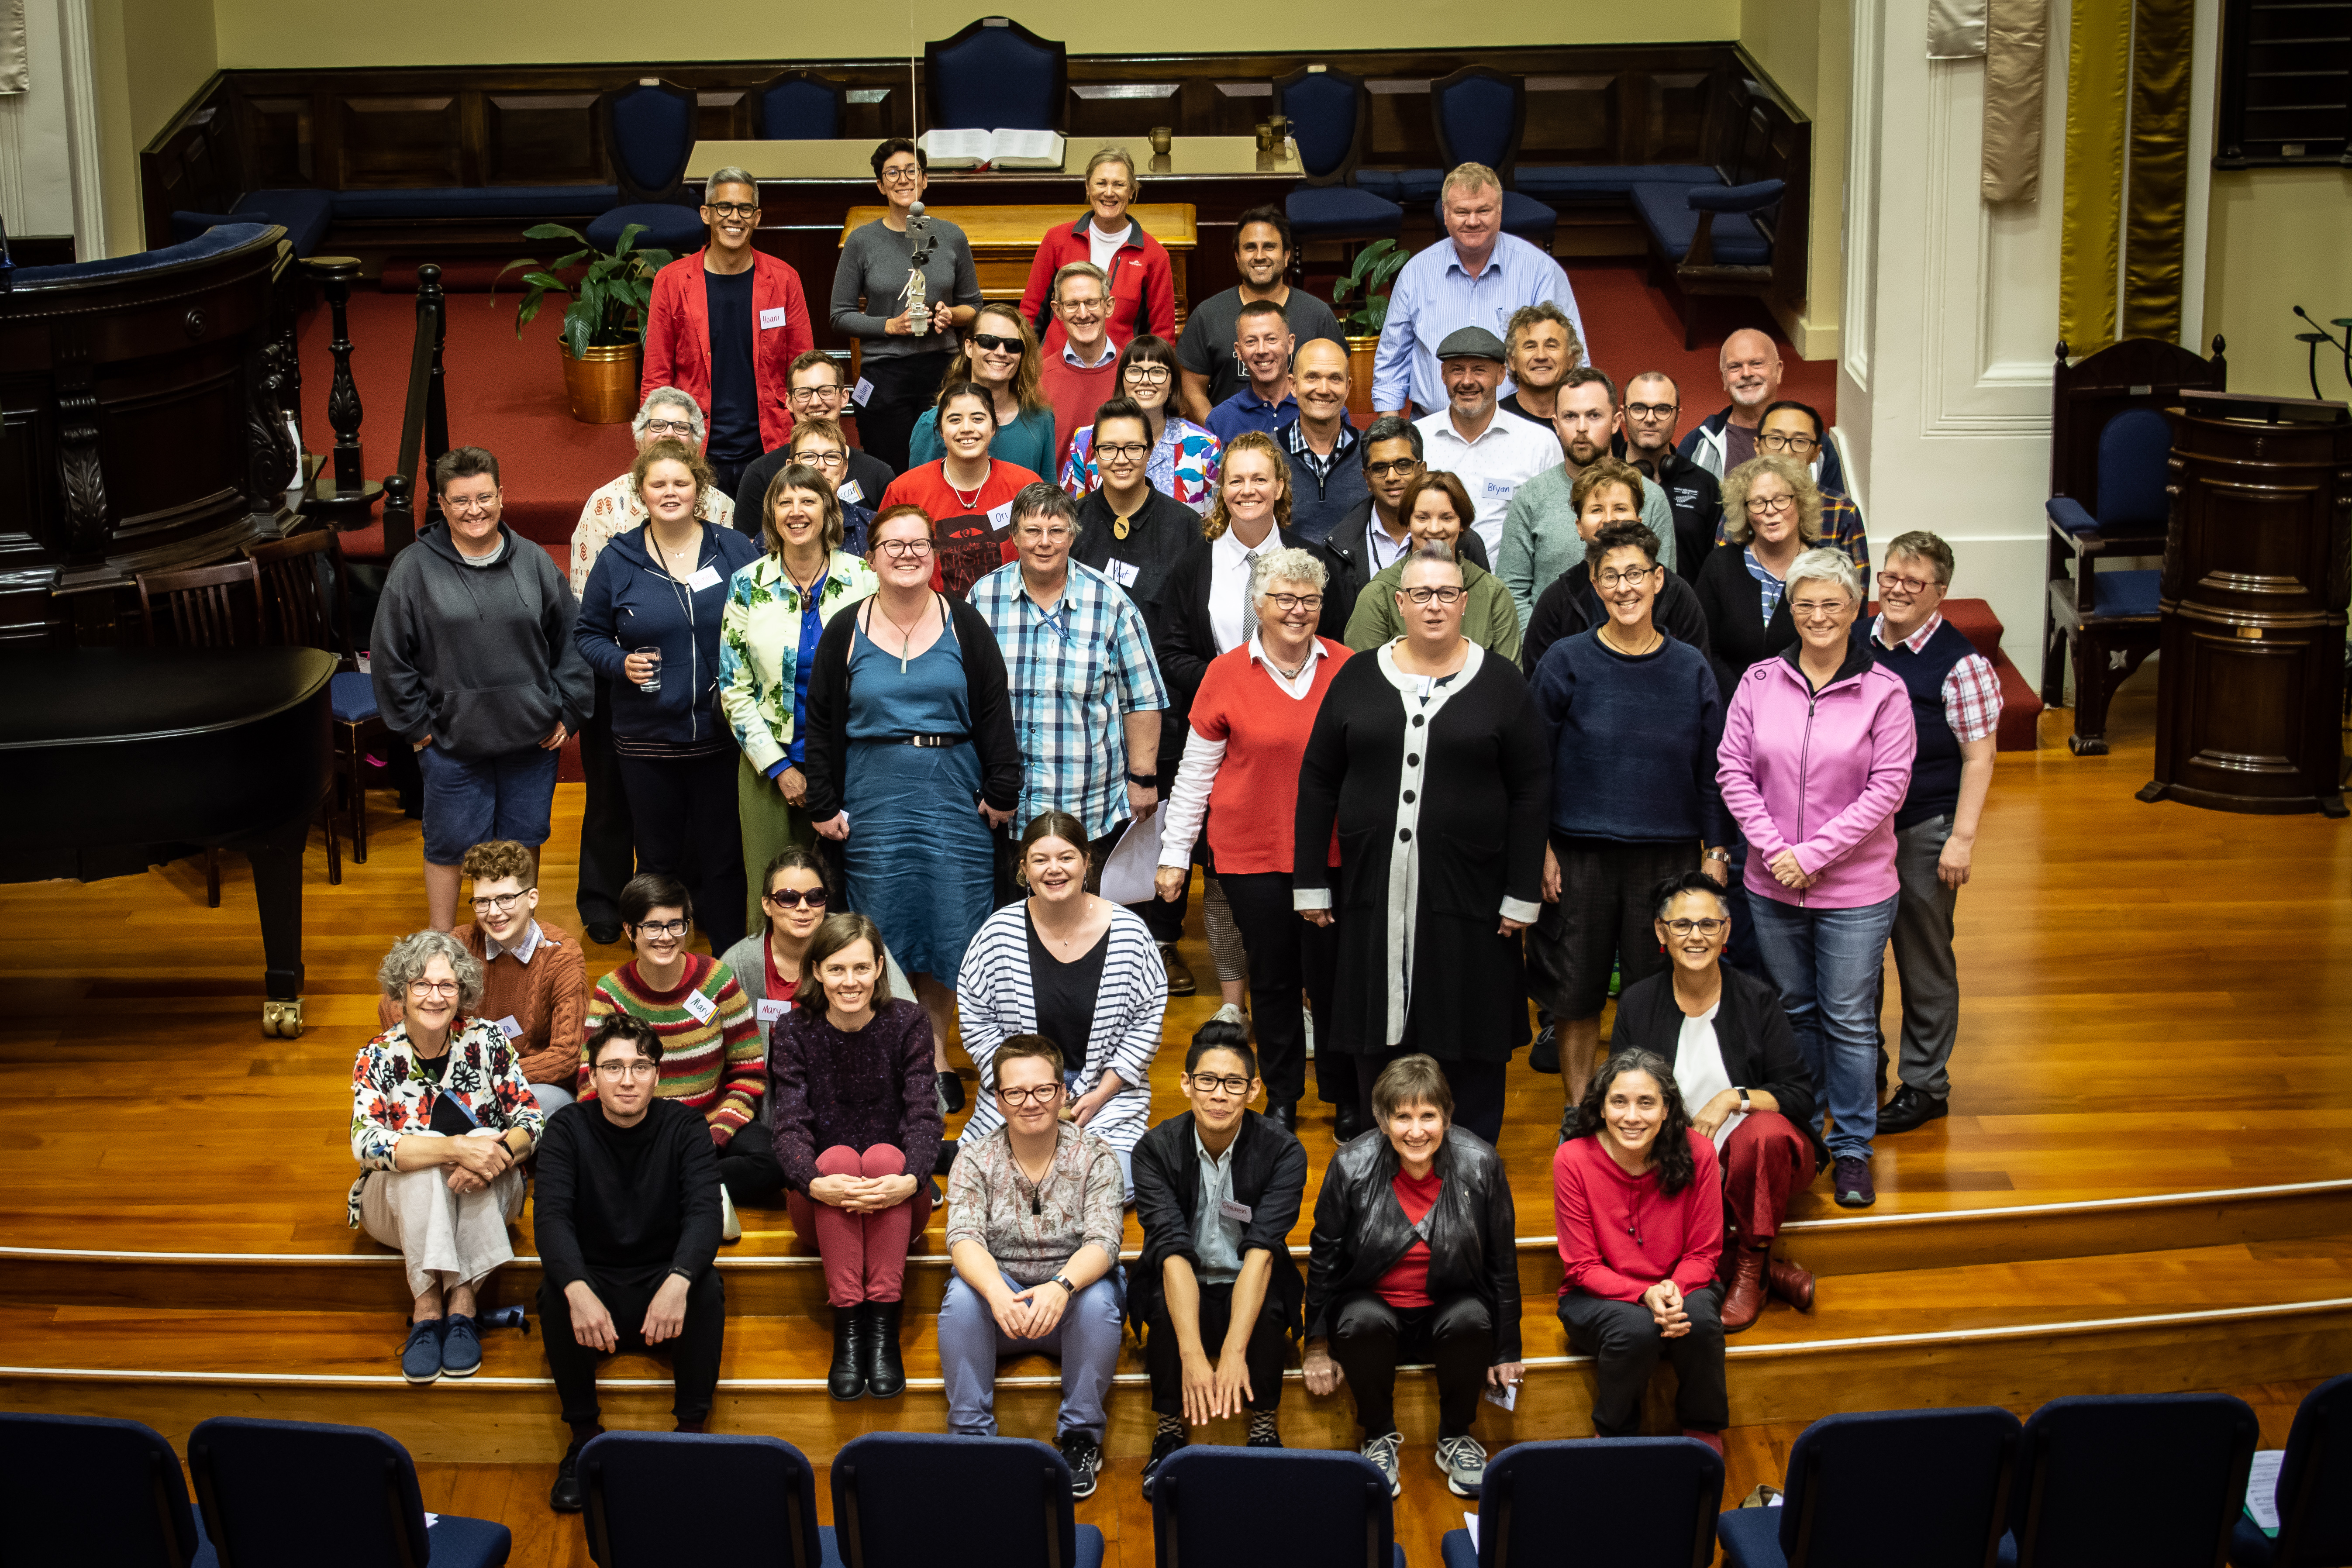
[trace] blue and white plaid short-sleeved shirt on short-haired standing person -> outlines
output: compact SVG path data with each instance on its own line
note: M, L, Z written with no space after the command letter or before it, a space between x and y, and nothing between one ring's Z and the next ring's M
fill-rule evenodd
M1143 611L1077 562L1051 614L1021 585L1021 562L974 583L971 609L1004 649L1025 764L1016 830L1040 811L1068 811L1089 839L1103 837L1129 816L1124 717L1169 705Z

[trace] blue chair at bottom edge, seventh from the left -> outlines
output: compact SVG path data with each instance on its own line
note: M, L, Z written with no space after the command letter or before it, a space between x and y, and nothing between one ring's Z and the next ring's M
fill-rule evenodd
M1825 1415L1776 1509L1715 1521L1729 1568L1985 1568L2009 1528L2018 1418L1990 1406Z

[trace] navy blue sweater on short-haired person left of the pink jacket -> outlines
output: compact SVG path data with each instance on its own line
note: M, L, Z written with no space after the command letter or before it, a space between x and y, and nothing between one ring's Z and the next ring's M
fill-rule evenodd
M1715 752L1724 705L1708 656L1665 637L1625 658L1599 628L1562 637L1536 665L1552 738L1552 832L1571 839L1722 844Z

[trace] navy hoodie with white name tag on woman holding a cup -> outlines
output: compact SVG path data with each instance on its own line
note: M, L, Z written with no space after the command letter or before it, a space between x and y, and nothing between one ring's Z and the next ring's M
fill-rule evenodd
M760 559L760 545L706 522L701 559L680 583L654 562L647 527L616 536L588 569L581 656L609 682L612 733L673 745L729 736L720 712L720 618L727 578ZM637 691L621 672L637 649L661 649L661 691Z

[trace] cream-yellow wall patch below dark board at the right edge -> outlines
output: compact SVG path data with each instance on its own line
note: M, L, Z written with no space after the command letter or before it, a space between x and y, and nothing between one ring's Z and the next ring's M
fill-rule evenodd
M2310 397L2310 331L2352 315L2352 169L2216 169L2204 331L2230 341L2230 390ZM2340 334L2338 334L2340 336ZM2328 364L2333 357L2333 364ZM2343 355L2321 343L2321 397L2347 397Z

